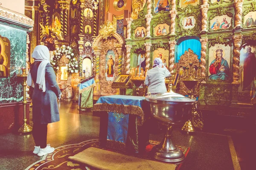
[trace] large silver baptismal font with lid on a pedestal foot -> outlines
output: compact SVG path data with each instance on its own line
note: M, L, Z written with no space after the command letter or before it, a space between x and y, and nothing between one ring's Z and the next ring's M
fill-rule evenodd
M162 142L154 147L154 159L174 164L182 163L185 156L180 148L172 142L172 127L184 125L189 120L195 99L172 92L172 85L169 85L168 92L155 95L149 93L145 99L149 102L151 116L160 122L166 130Z

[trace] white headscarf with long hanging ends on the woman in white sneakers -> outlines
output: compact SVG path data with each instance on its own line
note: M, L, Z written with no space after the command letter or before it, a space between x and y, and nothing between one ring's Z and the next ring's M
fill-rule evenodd
M45 67L47 63L50 63L49 49L45 45L38 45L35 47L32 53L32 57L35 59L35 61L41 61L38 67L36 83L39 85L39 89L45 92ZM27 78L27 85L35 87L34 82L32 81L30 70Z

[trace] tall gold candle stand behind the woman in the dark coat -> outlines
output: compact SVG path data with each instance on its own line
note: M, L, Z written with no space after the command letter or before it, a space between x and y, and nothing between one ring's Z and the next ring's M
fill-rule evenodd
M25 71L26 71L26 68L21 68L21 71L22 71L22 74L20 74L20 71L19 71L19 74L17 74L17 77L23 77L23 112L24 112L24 115L23 115L23 125L19 128L18 132L19 133L27 133L27 132L31 132L32 131L32 127L28 124L26 124L26 77L28 76Z

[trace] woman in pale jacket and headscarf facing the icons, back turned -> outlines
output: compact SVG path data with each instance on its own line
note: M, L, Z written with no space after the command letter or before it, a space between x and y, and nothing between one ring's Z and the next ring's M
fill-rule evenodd
M160 58L155 58L153 66L147 72L144 84L148 86L148 92L151 94L165 93L165 77L170 75L170 71L164 67Z

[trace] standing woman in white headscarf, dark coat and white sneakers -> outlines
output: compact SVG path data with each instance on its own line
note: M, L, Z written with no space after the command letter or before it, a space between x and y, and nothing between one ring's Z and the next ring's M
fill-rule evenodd
M35 62L30 66L27 84L34 88L32 134L35 140L35 149L33 153L44 156L55 150L47 144L47 125L60 120L57 97L61 98L61 90L50 64L49 49L44 45L38 45L35 47L32 57Z

